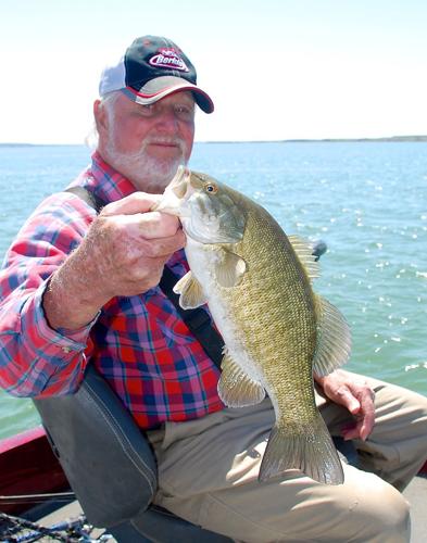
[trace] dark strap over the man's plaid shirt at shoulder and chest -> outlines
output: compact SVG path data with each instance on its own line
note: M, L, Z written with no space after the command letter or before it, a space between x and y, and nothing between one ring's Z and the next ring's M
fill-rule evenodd
M84 200L88 205L93 207L99 213L104 202L96 194L85 189L84 187L72 187L66 189L65 192L71 192ZM187 325L188 329L194 338L202 345L204 352L212 359L212 362L221 369L221 361L223 358L224 341L216 329L212 326L211 317L209 314L198 307L196 310L183 310L179 305L179 295L175 294L173 288L178 281L178 277L167 267L164 267L162 278L159 287L162 292L171 300L180 318Z

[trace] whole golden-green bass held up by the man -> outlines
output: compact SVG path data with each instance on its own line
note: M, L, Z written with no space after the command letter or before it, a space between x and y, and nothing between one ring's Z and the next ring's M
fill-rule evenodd
M259 203L208 174L179 166L155 210L176 215L189 272L174 291L183 308L208 304L225 343L217 391L228 407L262 402L275 413L259 480L298 469L324 484L343 470L316 407L313 371L344 364L351 331L316 294L309 241L287 236Z

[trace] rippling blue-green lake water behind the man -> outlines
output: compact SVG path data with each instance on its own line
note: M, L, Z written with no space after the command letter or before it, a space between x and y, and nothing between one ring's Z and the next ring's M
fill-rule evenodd
M89 162L85 147L0 147L0 255L34 207ZM323 239L315 290L352 328L349 369L427 395L427 143L197 143L190 166ZM39 422L0 391L0 438Z

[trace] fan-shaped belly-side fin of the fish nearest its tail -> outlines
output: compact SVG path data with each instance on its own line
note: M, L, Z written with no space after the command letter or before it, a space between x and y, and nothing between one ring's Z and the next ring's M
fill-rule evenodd
M251 379L234 362L228 353L221 363L222 374L218 381L218 394L228 407L255 405L265 397L264 387Z

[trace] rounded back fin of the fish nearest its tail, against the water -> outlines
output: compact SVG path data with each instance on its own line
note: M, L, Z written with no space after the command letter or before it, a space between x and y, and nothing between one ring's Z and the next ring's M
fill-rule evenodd
M341 312L327 300L316 296L317 345L313 370L328 375L344 364L351 352L351 332Z

